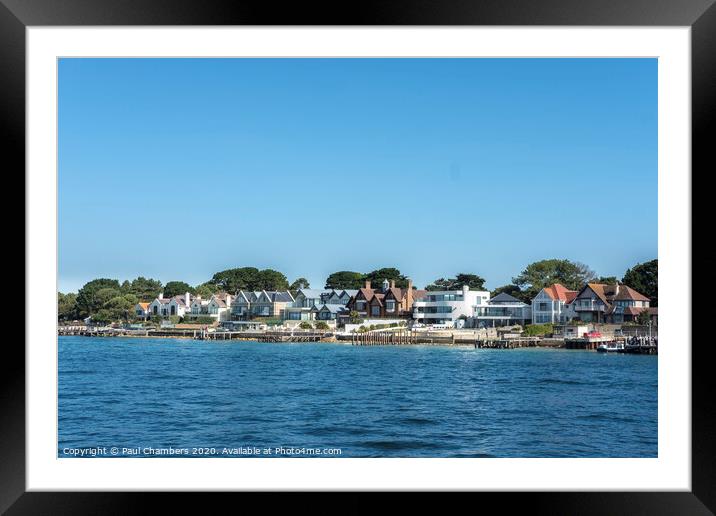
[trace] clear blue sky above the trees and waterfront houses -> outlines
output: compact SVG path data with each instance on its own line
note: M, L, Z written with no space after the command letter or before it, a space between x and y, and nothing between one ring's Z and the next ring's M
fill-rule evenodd
M656 59L59 63L63 292L656 256Z

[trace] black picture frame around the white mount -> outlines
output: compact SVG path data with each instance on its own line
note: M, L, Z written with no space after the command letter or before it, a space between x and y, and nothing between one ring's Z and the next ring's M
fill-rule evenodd
M25 167L25 28L62 25L553 25L689 26L692 35L693 188L709 173L709 136L716 119L715 0L393 1L359 4L212 0L0 0L0 127L9 173ZM711 129L711 130L710 130ZM8 160L8 158L10 158ZM711 167L713 168L713 166ZM7 170L7 169L6 169ZM688 178L685 178L687 180ZM695 217L694 217L695 220ZM693 269L713 265L697 259ZM694 297L694 301L696 297ZM682 343L684 347L691 345ZM704 344L708 344L705 342ZM692 491L622 493L485 493L501 510L528 504L549 514L713 514L716 511L716 403L710 351L692 346ZM143 512L147 498L165 510L187 508L186 496L161 493L25 492L25 350L6 343L0 360L0 511L7 514L126 514ZM201 503L201 502L200 502ZM482 502L480 502L482 503ZM360 507L360 502L355 508Z

